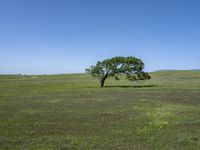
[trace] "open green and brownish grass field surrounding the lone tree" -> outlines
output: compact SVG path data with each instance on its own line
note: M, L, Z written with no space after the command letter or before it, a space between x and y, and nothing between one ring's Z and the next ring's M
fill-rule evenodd
M0 149L200 149L200 71L0 76Z

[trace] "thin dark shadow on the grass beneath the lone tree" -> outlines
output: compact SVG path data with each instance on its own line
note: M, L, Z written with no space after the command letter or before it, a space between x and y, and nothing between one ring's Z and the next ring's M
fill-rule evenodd
M151 88L158 87L158 85L106 85L104 88Z

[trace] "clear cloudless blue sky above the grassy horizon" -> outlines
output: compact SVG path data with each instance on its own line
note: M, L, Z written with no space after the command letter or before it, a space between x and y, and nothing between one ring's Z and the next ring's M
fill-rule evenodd
M0 0L0 74L84 72L113 56L199 69L200 1Z

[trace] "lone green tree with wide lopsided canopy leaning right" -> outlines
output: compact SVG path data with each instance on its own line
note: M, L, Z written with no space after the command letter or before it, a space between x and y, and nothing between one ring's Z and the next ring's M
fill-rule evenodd
M100 86L103 87L105 80L114 77L119 80L119 75L125 74L129 81L145 81L151 79L147 72L143 71L144 63L136 57L113 57L98 61L95 66L86 69L86 73L99 79Z

